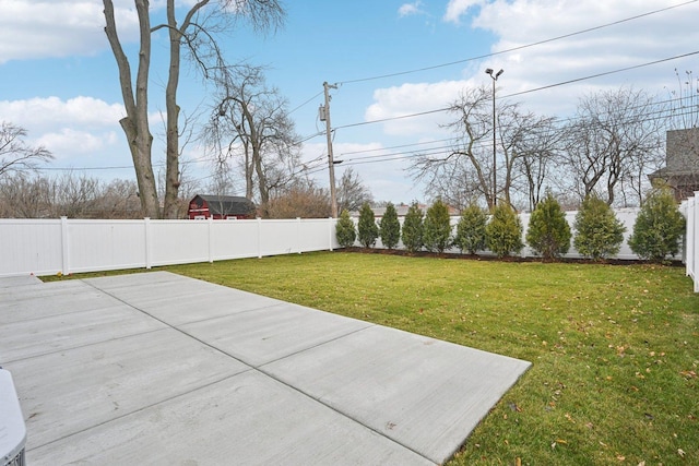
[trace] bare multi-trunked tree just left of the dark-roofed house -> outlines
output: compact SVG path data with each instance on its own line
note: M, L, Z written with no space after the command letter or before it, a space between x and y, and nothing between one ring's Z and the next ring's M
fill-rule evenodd
M612 205L623 186L636 187L639 171L660 162L664 124L655 99L642 91L623 87L583 97L565 129L566 169L580 199L596 193Z

